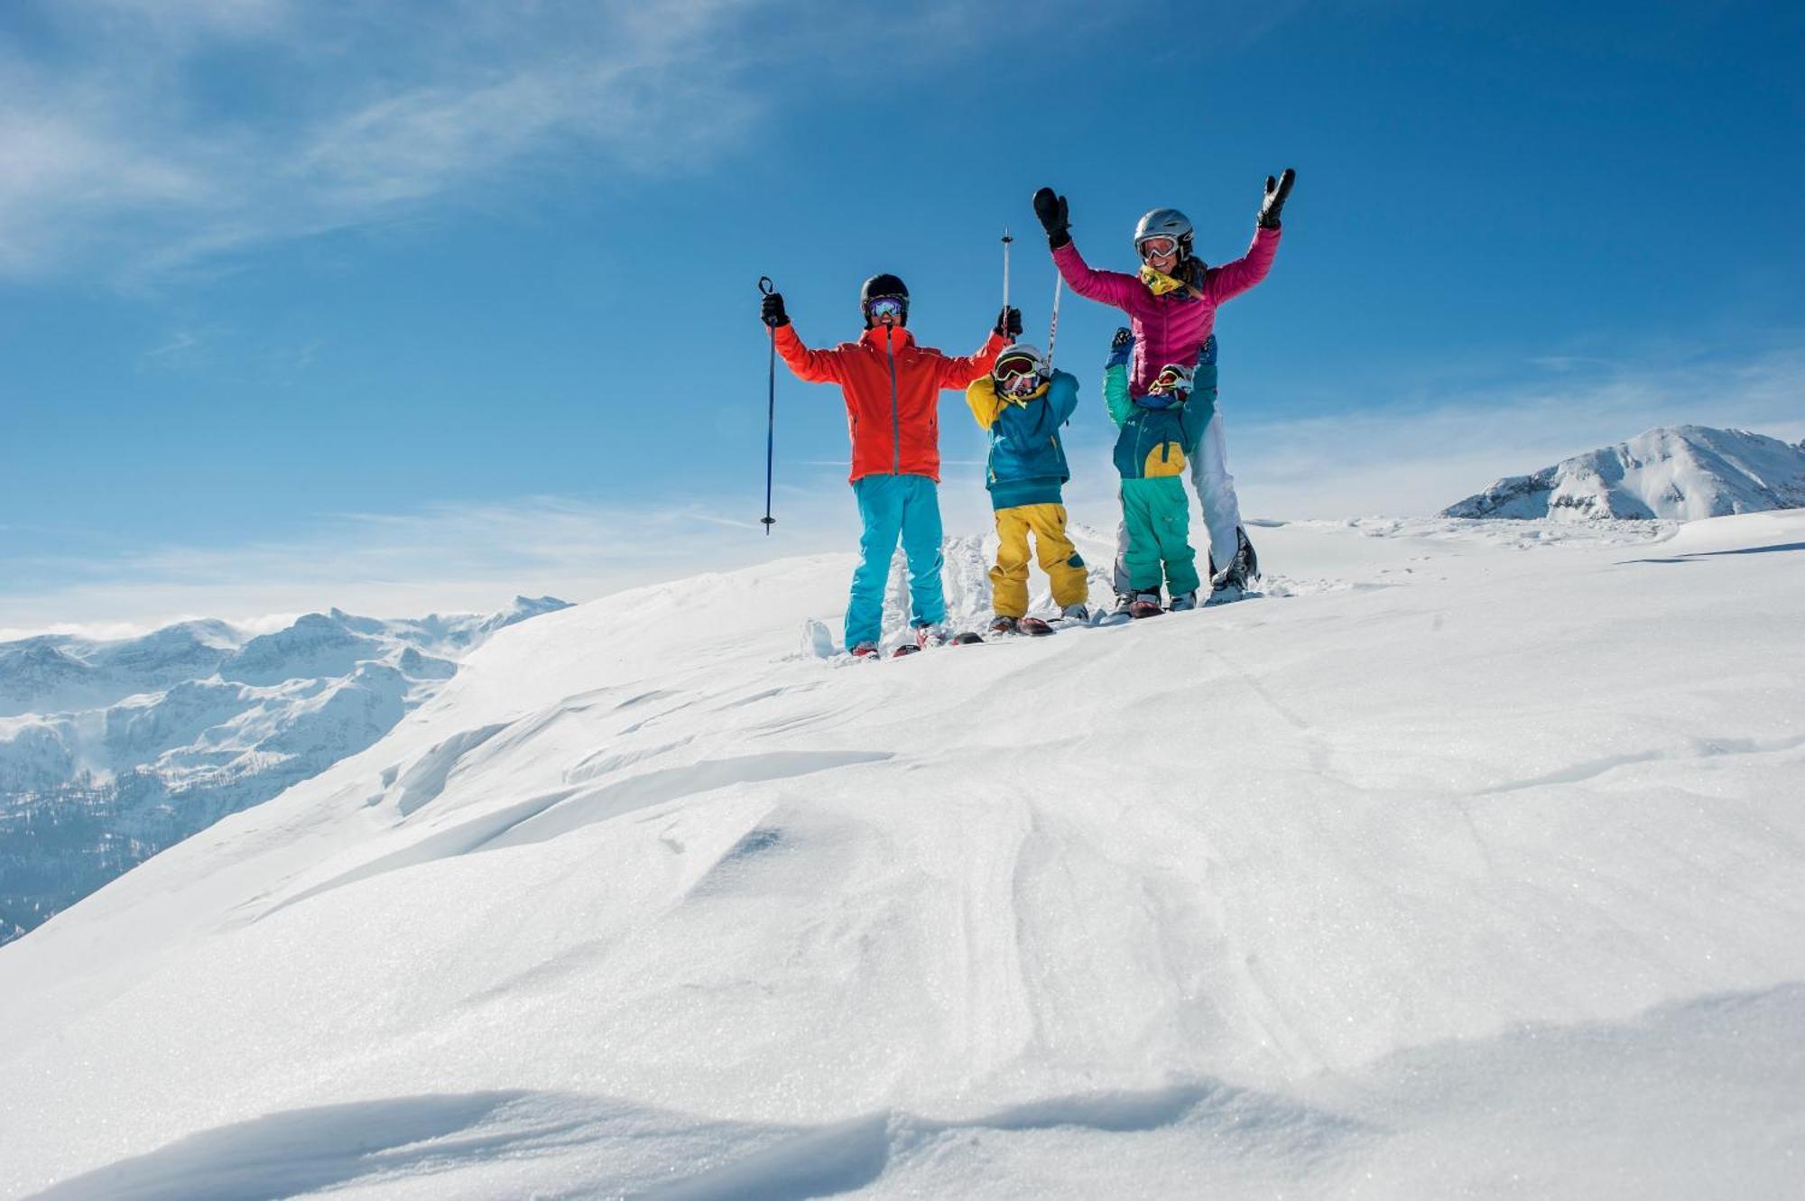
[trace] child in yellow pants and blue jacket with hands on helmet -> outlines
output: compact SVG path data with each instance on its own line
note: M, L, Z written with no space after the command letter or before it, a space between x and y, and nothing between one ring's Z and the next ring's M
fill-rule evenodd
M1040 570L1052 581L1060 615L1087 620L1090 582L1085 561L1065 536L1061 485L1072 478L1060 426L1078 408L1078 379L1049 371L1034 346L996 355L991 373L966 388L978 426L991 435L984 487L996 509L996 566L991 568L991 633L1014 633L1027 617L1029 534Z

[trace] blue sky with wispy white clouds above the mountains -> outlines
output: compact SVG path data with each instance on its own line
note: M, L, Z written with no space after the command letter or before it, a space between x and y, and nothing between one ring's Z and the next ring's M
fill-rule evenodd
M1431 512L1670 422L1805 436L1805 18L1780 4L0 7L0 631L587 599L848 548L859 281L1045 339L1182 207L1273 276L1218 325L1256 516ZM1115 316L1061 308L1094 386ZM980 530L978 429L942 422ZM1076 519L1112 518L1072 427Z

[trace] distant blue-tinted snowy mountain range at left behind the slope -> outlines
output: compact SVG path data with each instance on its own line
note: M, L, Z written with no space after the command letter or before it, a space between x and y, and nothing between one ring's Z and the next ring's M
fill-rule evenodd
M386 734L504 626L567 608L377 620L309 613L251 637L0 644L0 943L226 813Z

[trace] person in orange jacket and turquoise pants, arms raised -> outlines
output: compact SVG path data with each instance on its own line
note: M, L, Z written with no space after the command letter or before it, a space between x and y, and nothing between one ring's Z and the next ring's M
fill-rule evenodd
M957 359L919 346L908 332L908 289L872 276L859 290L865 334L832 350L809 350L783 312L783 296L764 299L778 353L810 384L839 384L852 435L852 492L865 532L847 604L847 649L875 655L883 633L884 579L897 539L908 557L910 624L915 646L946 642L940 591L940 393L964 391L989 373L1022 314L1005 308L978 353Z

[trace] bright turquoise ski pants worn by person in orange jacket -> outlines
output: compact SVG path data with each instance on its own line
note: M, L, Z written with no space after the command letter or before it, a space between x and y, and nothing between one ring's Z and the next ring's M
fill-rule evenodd
M946 620L940 591L940 487L928 476L863 476L852 481L859 500L859 566L847 604L847 649L877 642L884 624L884 584L897 539L908 557L910 624Z

